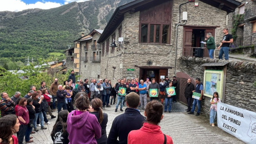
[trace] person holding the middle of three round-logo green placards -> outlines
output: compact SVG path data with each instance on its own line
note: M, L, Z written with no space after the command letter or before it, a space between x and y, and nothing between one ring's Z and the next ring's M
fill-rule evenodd
M149 94L149 97L151 98L151 100L158 100L158 95L159 95L159 92L160 92L160 87L158 85L158 83L156 82L156 79L155 78L151 78L151 84L149 84L148 86L148 94Z

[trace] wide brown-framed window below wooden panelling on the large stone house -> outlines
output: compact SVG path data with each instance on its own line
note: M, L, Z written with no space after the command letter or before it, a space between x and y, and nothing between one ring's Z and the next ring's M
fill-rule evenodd
M148 33L149 31L149 33ZM141 24L141 43L170 43L170 25Z

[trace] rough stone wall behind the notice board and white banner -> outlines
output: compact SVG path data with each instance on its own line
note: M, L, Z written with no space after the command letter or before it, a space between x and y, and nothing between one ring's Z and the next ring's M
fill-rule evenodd
M206 62L224 62L218 59L203 59L180 57L178 71L188 74L192 78L199 77L204 82L204 67ZM225 103L235 107L256 112L256 62L230 61L227 65ZM210 99L202 100L202 113L209 116ZM223 102L223 101L222 101Z

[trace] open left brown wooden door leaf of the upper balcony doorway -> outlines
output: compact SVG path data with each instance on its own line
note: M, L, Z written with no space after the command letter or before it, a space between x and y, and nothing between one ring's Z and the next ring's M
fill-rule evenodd
M183 55L191 56L192 54L192 28L184 28L183 33Z

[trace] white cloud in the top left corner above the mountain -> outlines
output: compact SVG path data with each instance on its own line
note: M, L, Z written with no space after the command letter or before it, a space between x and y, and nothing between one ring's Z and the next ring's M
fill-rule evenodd
M26 4L21 0L7 0L0 2L0 11L22 11L26 9L52 9L54 7L59 7L62 4L55 2L36 2L35 4Z

